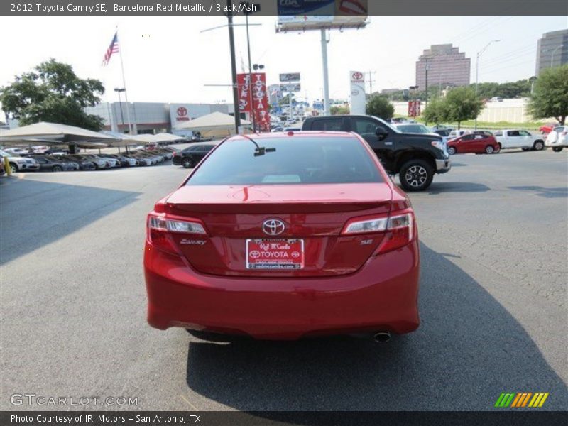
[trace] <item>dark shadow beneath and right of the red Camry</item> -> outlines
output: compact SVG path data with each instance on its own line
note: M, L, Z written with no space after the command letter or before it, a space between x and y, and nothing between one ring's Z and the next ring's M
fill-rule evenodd
M492 410L500 393L520 391L568 408L566 385L523 326L440 253L421 251L416 332L386 344L193 340L187 386L236 410Z

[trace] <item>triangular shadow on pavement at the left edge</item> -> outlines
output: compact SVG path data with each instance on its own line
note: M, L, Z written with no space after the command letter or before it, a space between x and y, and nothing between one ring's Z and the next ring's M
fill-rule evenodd
M31 179L6 183L0 185L0 265L72 234L140 195Z

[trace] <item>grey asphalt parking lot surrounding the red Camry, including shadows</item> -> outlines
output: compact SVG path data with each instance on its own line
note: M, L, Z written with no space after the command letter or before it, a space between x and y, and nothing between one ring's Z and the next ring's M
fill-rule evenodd
M146 213L169 164L0 179L1 410L14 393L125 396L116 410L491 410L501 392L568 409L568 154L456 155L411 195L417 332L209 343L146 324Z

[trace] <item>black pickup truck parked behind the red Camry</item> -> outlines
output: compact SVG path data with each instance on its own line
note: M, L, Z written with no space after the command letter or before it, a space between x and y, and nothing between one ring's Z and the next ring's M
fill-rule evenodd
M422 191L430 186L435 173L452 167L442 136L401 133L374 116L308 117L302 131L353 131L373 148L387 173L398 173L407 191Z

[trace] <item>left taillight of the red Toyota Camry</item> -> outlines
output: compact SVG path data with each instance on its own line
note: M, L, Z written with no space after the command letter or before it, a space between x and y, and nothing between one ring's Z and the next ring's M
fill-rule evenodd
M207 235L203 224L197 220L180 220L166 217L165 214L148 214L148 241L156 249L180 254L171 234Z

